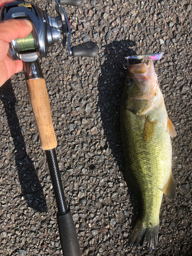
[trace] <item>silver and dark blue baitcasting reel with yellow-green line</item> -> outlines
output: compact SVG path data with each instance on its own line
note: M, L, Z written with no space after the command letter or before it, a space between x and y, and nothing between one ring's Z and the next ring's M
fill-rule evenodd
M56 18L50 17L35 5L24 1L13 2L3 7L0 21L7 19L28 19L33 25L29 36L13 40L10 43L10 54L13 60L22 59L25 62L35 61L38 56L46 57L49 48L62 40L66 46L68 35L69 54L76 56L95 57L98 46L95 42L86 42L80 46L70 47L71 29L65 9L60 5L80 6L82 0L56 0Z

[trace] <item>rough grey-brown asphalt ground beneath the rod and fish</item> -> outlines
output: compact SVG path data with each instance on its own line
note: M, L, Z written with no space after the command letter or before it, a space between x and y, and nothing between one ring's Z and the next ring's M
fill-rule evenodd
M31 1L56 16L54 0ZM58 141L63 186L82 255L192 255L191 1L84 0L66 7L71 44L97 42L95 58L54 46L41 60ZM176 201L163 197L157 250L126 246L139 204L124 181L119 105L129 54L164 52L155 61L175 125ZM62 255L46 155L24 73L0 89L0 254Z

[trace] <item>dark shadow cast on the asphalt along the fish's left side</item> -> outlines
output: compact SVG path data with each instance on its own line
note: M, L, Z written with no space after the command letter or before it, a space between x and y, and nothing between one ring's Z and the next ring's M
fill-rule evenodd
M131 46L135 45L135 42L130 40L113 41L106 45L104 54L101 57L101 74L98 79L98 110L106 137L104 149L106 150L109 146L124 180L125 157L120 138L120 101L127 73L125 69L127 60L125 57L136 54L130 49ZM138 218L138 205L140 202L130 184L127 184L127 186L132 212L132 216L128 216L127 219L131 220L131 223L133 223L133 226L132 224L131 226L134 227Z

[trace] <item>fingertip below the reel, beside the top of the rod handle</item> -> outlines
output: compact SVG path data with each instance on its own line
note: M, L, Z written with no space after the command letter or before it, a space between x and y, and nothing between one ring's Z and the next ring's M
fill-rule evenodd
M0 87L15 73L24 69L22 60L12 60L7 55L3 61L0 62Z

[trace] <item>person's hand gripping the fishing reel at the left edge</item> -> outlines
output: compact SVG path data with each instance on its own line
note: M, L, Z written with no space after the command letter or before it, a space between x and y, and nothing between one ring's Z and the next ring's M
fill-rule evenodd
M0 0L0 9L13 1ZM16 38L24 38L32 31L29 20L9 19L0 23L0 87L15 73L24 69L22 60L12 60L7 54L9 42Z

